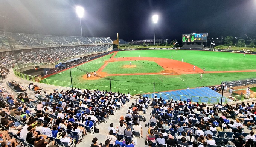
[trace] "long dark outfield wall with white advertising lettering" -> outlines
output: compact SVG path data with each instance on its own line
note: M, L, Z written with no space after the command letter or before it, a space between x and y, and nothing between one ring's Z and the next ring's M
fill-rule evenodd
M236 50L228 50L228 49L213 49L213 48L133 48L133 49L113 49L113 51L126 51L126 50L156 50L156 49L174 49L174 50L195 50L195 51L218 51L218 52L234 52L241 54L254 54L255 51L236 51Z

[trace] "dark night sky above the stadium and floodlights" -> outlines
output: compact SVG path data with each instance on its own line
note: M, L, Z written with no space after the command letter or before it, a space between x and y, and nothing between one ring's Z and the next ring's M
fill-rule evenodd
M256 0L0 0L0 29L18 33L80 36L75 7L82 6L83 36L126 41L208 32L210 38L256 37Z

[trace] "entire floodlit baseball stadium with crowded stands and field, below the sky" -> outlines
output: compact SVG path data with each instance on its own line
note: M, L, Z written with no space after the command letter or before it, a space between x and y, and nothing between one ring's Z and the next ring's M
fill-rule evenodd
M81 36L11 32L0 15L1 147L256 146L253 37L83 36L72 7Z

